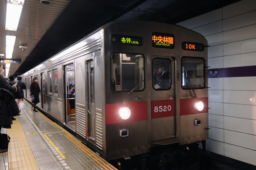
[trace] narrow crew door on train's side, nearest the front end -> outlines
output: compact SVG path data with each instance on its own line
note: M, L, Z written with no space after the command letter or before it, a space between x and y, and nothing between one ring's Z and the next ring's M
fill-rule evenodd
M88 132L89 139L95 141L95 103L94 103L94 63L93 60L87 62L87 92L88 92Z

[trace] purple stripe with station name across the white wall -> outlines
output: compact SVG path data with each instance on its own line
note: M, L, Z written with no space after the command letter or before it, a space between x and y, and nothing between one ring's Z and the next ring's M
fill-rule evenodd
M256 76L256 66L208 69L208 78Z

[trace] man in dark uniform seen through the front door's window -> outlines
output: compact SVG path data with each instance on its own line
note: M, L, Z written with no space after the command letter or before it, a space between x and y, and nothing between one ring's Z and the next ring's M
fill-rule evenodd
M158 65L160 79L158 81L159 89L168 89L170 87L170 74L166 72L164 64Z

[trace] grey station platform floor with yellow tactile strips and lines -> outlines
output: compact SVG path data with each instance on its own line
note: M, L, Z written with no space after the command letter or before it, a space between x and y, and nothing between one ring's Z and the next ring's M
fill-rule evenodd
M15 116L9 148L0 153L0 170L116 170L82 142L24 100Z

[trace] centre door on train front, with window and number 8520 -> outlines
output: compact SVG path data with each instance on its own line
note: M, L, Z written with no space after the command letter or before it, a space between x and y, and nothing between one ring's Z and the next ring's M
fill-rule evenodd
M151 136L152 143L176 137L175 69L173 58L151 60Z

